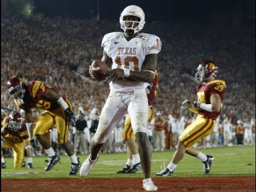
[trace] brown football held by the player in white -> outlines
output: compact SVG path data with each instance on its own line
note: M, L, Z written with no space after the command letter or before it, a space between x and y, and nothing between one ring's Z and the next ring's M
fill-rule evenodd
M105 74L109 70L107 63L101 60L94 60L91 65L90 75L93 79L103 81L108 74Z

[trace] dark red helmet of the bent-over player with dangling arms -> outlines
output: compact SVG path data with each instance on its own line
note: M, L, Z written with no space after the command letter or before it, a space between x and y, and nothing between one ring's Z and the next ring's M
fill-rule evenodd
M26 84L22 78L12 77L7 82L9 96L14 99L22 99L24 97L24 93L26 92L25 88Z

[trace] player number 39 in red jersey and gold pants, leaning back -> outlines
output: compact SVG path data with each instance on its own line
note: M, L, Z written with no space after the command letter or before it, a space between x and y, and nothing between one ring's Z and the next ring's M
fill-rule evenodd
M202 82L197 87L197 101L184 100L181 105L198 114L196 120L188 125L179 137L178 148L175 151L170 164L157 176L173 175L174 169L181 161L185 153L197 157L203 162L204 173L211 170L213 156L205 155L198 151L193 145L200 139L210 135L215 127L216 119L220 115L226 83L221 79L215 79L218 73L217 65L212 61L203 61L197 67L195 78Z

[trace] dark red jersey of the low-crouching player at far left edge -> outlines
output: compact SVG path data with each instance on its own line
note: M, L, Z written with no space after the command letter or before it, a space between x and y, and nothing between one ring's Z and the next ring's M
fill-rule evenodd
M28 138L28 130L25 122L22 123L21 129L17 131L12 131L11 128L8 126L9 121L10 121L10 117L5 117L2 122L2 127L8 133L6 135L7 138L12 139L14 143L23 142L23 140Z

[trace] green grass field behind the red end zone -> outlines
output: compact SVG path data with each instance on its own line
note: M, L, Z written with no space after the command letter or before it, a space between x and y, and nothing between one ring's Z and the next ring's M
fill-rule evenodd
M255 176L255 146L217 147L201 149L205 154L213 155L215 161L209 177L227 176ZM165 163L167 166L174 154L173 150L153 151L151 175L161 170ZM83 162L87 155L77 155ZM5 158L6 169L1 169L1 179L28 179L28 178L70 178L70 161L68 156L60 156L61 163L46 172L45 159L43 157L33 157L35 169L21 168L13 169L13 158ZM88 178L142 178L142 171L133 174L116 174L126 163L126 153L100 154L98 162L94 165ZM174 177L205 177L203 164L199 159L185 155L174 171ZM80 178L79 174L72 178Z

